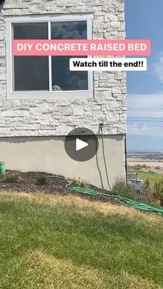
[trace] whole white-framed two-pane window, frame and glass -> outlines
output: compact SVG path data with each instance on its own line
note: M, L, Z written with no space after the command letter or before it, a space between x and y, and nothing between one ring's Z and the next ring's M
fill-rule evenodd
M70 56L14 56L14 39L91 39L92 15L6 17L8 99L93 97L93 72L69 70Z

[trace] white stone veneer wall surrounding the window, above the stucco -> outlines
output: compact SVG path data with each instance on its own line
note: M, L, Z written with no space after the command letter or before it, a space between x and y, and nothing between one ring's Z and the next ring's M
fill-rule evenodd
M125 37L124 0L6 0L6 15L94 14L93 39ZM0 137L66 135L75 126L126 133L125 72L95 72L93 99L8 100L6 25L0 20Z

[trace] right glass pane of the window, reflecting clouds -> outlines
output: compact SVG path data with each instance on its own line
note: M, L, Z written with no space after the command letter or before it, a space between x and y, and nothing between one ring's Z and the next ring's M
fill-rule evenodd
M87 39L86 21L51 23L52 39ZM70 56L52 57L52 90L88 90L88 72L70 71Z

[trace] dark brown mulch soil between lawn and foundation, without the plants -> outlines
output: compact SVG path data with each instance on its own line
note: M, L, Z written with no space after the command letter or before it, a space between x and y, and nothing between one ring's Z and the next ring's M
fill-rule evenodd
M16 181L8 182L8 177L11 176L17 176ZM44 192L45 194L53 194L53 195L78 195L80 197L90 199L90 200L101 200L105 202L110 202L113 204L117 204L121 206L121 203L115 201L112 198L108 197L95 197L90 195L84 195L77 192L74 192L72 190L68 190L66 188L66 185L68 184L68 181L66 179L59 178L60 176L55 177L48 177L48 183L47 184L39 184L38 180L40 177L48 177L52 176L51 174L47 174L46 172L19 172L19 171L11 171L7 170L6 175L0 175L0 191L7 191L7 192ZM57 178L58 177L58 178ZM72 184L73 186L73 184ZM74 186L77 186L77 184L74 184ZM88 185L88 188L97 190L98 192L104 192L105 194L109 194L107 190L102 190L101 188L97 188L92 185Z

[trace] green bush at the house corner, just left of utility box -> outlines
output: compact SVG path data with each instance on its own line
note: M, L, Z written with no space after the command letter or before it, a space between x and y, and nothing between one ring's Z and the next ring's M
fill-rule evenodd
M131 185L126 185L124 179L117 179L111 190L112 195L126 197L128 199L137 199L135 188Z

